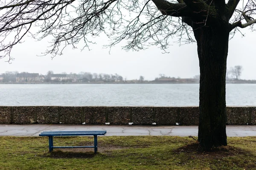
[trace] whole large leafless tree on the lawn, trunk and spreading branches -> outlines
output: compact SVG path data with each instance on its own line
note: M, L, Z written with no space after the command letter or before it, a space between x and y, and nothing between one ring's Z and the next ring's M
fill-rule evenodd
M239 1L1 0L0 58L11 60L13 46L23 42L26 35L37 40L53 37L46 51L53 56L63 54L67 45L77 48L80 41L88 48L101 33L111 39L109 47L125 40L125 50L149 45L166 50L172 37L178 37L179 44L197 42L198 142L203 150L211 150L227 145L225 77L229 39L241 28L255 30L255 0L243 0L238 5Z

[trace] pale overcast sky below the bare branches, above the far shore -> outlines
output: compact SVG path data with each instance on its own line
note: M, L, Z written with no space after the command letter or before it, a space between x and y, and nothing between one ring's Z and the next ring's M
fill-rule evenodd
M256 32L249 28L242 30L246 37L237 34L230 40L227 68L242 65L241 79L256 79ZM49 43L47 40L36 42L26 38L25 42L13 48L12 64L5 62L7 58L0 59L0 73L5 71L19 71L46 74L52 70L54 73L80 71L92 73L120 74L127 79L139 79L140 75L147 80L166 74L170 77L191 78L199 74L196 43L179 46L175 40L169 40L172 46L168 54L155 46L142 51L126 52L120 46L111 49L102 48L108 43L105 38L99 37L97 45L92 45L91 51L85 49L73 50L71 47L64 51L64 55L51 59L50 55L38 57L45 51Z

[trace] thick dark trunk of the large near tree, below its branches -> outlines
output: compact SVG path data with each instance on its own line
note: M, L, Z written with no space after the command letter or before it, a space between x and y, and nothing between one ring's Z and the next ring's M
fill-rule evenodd
M226 70L228 22L193 28L200 66L198 142L203 150L227 145Z

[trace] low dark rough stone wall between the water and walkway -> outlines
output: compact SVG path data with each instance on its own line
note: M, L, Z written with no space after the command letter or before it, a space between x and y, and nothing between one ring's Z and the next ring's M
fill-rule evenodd
M227 106L227 125L256 125L256 106ZM0 106L0 124L198 125L199 107Z

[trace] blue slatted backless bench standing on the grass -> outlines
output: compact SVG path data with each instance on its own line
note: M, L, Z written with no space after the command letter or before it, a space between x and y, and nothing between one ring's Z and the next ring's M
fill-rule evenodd
M105 135L106 130L76 130L76 131L44 131L39 136L49 136L49 152L53 148L77 148L77 147L94 147L94 153L98 150L98 135ZM53 146L53 136L94 136L94 146Z

